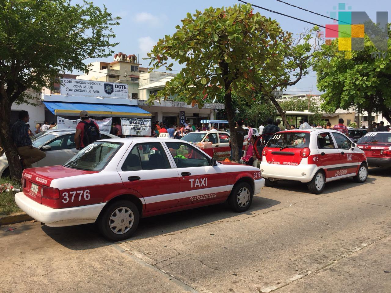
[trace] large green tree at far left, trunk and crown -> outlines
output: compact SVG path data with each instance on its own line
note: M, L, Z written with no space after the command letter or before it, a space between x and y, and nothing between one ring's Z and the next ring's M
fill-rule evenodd
M2 0L0 9L0 140L11 177L22 168L11 138L11 105L30 103L27 89L53 88L66 71L88 72L84 59L108 57L119 25L104 7L65 0Z

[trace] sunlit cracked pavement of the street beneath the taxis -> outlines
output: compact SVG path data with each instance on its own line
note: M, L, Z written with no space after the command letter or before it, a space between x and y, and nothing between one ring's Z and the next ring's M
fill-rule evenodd
M0 231L0 292L391 292L391 170L322 195L283 181L251 209L143 219L122 243L95 225Z

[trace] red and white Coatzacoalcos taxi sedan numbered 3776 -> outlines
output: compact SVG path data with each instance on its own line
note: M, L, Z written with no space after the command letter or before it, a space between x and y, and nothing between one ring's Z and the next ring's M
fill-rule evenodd
M97 222L112 240L129 238L140 217L228 199L246 211L264 186L252 166L216 162L187 141L96 141L61 166L23 171L18 206L51 227Z

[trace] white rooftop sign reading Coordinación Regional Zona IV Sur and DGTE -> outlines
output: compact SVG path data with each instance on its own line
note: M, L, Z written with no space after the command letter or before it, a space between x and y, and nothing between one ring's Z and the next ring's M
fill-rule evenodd
M61 79L61 95L128 98L128 85L84 79Z

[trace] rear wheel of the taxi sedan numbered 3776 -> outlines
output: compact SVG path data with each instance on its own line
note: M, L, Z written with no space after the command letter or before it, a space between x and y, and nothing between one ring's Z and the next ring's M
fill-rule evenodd
M133 202L118 200L105 207L99 217L99 230L104 237L120 241L135 232L140 221L140 212Z

